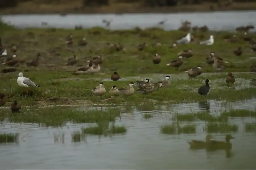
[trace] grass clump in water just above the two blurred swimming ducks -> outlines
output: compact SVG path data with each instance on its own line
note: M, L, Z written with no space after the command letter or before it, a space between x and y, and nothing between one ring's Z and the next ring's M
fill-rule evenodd
M238 125L236 124L228 124L228 123L215 123L209 122L206 124L207 133L229 133L229 132L237 132Z

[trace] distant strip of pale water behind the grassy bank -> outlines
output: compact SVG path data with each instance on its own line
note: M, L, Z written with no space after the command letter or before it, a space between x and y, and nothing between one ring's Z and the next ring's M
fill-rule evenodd
M256 25L254 16L256 11L229 11L229 12L189 12L170 14L69 14L60 15L3 15L2 19L18 27L42 27L42 22L47 22L47 27L74 28L82 25L84 28L105 26L103 19L113 20L109 29L131 29L136 26L141 28L155 27L157 23L168 19L162 27L166 30L178 29L181 22L188 20L192 26L207 25L211 30L234 30L238 26Z

